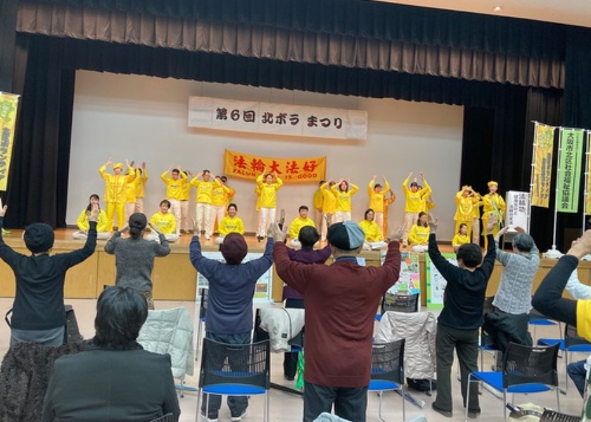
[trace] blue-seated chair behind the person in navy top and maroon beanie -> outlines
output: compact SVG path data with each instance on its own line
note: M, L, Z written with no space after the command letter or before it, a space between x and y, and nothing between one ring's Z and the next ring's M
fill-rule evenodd
M269 379L271 349L269 340L248 345L228 345L203 339L196 422L201 415L201 396L205 399L205 417L209 414L209 395L265 395L264 420L269 421Z

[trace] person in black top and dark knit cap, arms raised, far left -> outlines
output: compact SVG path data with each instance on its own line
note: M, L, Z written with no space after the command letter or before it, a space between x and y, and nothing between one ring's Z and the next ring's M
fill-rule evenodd
M4 223L6 209L0 203L0 228ZM11 346L18 342L63 345L65 273L94 252L98 205L89 211L88 221L88 237L84 247L67 254L49 255L54 237L53 229L45 223L33 223L25 229L23 240L32 253L30 256L15 252L0 235L0 259L12 268L16 281Z

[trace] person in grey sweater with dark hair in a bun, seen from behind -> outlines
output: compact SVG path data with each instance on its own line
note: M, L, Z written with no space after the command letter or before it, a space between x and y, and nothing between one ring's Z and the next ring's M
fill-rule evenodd
M160 242L144 239L144 230L148 223L146 216L134 213L129 217L129 225L113 233L106 245L105 252L115 255L117 275L115 284L122 287L133 287L144 294L148 307L154 309L152 300L152 270L155 256L167 256L170 247L165 235L154 225L150 228L158 233ZM122 233L129 228L129 237L123 239Z

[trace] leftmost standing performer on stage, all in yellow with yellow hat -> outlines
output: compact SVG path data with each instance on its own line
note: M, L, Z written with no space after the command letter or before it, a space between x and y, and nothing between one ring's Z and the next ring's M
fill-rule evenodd
M129 162L126 160L127 167ZM107 173L107 167L113 164L113 173ZM127 183L132 182L135 178L135 174L122 174L123 164L113 163L113 160L109 159L101 168L98 169L98 173L105 180L105 203L107 204L107 218L109 219L108 231L113 231L113 225L115 221L115 213L117 213L117 227L122 228L125 226L125 187Z

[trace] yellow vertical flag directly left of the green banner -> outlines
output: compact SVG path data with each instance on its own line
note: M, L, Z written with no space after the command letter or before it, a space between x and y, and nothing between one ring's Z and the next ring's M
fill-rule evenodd
M554 129L554 126L541 125L540 123L535 125L531 204L542 208L548 208L550 202Z

